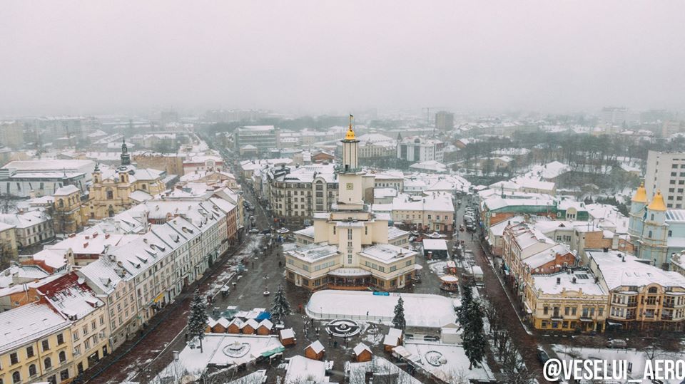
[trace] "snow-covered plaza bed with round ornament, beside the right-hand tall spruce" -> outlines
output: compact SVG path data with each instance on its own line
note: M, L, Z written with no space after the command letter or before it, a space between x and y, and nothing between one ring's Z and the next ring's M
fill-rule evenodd
M469 369L469 359L462 346L455 344L440 343L415 343L407 341L405 343L407 351L421 358L420 365L437 378L452 383L452 380L465 375L470 380L492 380L494 375L483 362L481 366ZM429 363L431 360L434 364Z

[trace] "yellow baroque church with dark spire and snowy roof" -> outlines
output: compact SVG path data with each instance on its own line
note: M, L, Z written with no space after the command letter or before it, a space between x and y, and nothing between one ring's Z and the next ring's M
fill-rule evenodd
M89 215L91 219L113 217L155 194L164 191L162 178L164 171L149 168L136 168L131 165L126 142L121 145L121 166L116 170L93 171L93 184L90 187Z

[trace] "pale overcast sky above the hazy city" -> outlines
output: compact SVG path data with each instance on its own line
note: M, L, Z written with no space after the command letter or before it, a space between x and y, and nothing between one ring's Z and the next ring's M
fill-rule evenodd
M4 1L0 113L685 105L683 1Z

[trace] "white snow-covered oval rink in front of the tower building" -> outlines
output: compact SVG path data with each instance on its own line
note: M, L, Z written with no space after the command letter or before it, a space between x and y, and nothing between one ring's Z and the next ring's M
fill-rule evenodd
M318 319L391 323L400 294L377 295L367 291L318 291L306 306L308 316ZM456 323L452 299L432 294L402 294L405 318L410 327L440 328Z

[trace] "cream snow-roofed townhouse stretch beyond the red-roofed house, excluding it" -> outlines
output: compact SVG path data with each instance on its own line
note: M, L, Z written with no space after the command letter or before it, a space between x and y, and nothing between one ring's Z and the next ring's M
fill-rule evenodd
M133 209L149 208L148 220L156 224L146 234L77 271L106 297L112 348L228 249L226 216L210 201L150 200Z

